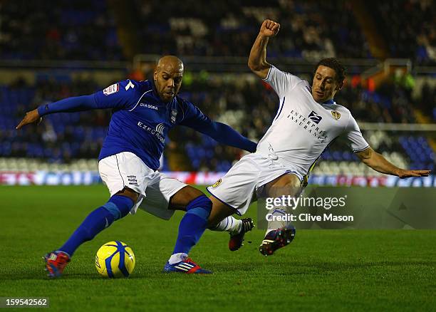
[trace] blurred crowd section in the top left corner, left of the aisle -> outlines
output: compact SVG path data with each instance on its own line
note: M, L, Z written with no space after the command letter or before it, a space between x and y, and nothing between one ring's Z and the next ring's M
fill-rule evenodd
M123 58L105 0L1 1L0 56L6 60Z

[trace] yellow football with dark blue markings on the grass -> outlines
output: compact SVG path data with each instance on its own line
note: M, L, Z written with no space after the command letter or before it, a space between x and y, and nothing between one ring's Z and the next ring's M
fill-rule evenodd
M122 241L109 241L95 254L95 268L101 276L110 279L128 277L135 268L135 254Z

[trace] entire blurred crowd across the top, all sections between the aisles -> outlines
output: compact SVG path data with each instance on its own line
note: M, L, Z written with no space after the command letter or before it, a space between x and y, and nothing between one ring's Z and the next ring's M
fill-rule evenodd
M247 56L264 18L281 23L269 56L314 60L372 58L351 1L222 0L128 2L5 0L0 2L4 59L122 60L117 30L135 36L136 53ZM436 63L435 6L431 0L365 2L391 58ZM118 8L118 9L117 9ZM130 16L131 15L131 16ZM118 21L118 24L115 23ZM125 35L126 36L126 35ZM129 35L130 36L130 35ZM125 50L128 41L124 41Z

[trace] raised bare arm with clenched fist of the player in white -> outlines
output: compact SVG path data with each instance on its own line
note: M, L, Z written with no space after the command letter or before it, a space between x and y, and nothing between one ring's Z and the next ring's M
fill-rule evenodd
M276 36L279 33L280 24L270 19L266 19L260 28L256 41L251 47L248 66L253 73L262 79L268 76L271 64L266 61L266 46L268 45L269 37Z

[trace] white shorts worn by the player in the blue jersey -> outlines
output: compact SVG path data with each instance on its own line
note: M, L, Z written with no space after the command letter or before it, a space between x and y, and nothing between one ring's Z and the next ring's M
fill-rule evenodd
M174 210L168 209L172 195L187 184L150 169L133 152L120 152L98 162L101 180L113 196L124 187L140 194L130 210L135 214L139 207L156 217L168 220Z

